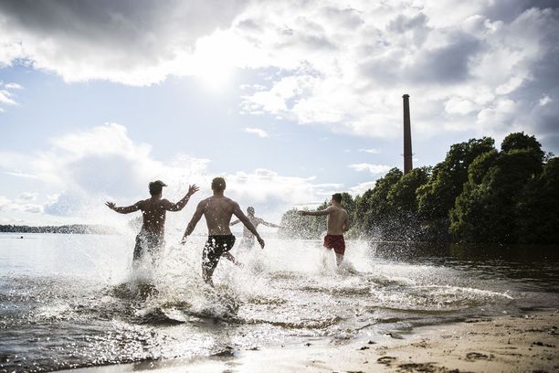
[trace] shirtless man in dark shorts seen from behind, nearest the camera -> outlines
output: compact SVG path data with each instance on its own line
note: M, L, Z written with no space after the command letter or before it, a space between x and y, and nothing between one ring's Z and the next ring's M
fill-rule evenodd
M223 255L230 261L235 262L233 255L228 252L235 244L235 236L231 234L231 229L229 229L229 222L233 215L239 218L245 227L256 236L258 243L264 249L264 240L258 234L257 229L254 228L250 220L239 208L237 202L223 195L225 189L226 181L223 177L216 177L212 180L214 195L200 201L194 216L186 226L185 235L182 240L182 243L186 242L186 238L190 236L196 224L204 215L208 236L202 252L202 277L206 283L212 286L214 285L212 276L216 270L219 258Z

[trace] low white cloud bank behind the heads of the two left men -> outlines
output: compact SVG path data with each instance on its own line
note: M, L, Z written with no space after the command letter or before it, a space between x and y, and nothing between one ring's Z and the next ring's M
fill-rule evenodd
M154 179L169 185L164 197L170 200L183 197L190 184L200 186L189 205L193 208L196 200L211 193L212 178L225 176L227 196L243 207L258 206L277 218L291 206L322 201L343 189L340 184L317 184L313 177L281 176L269 169L210 175L209 160L184 154L167 162L156 160L149 144L135 143L127 129L117 123L67 133L50 144L49 150L32 154L0 152L0 172L37 180L37 186L59 191L42 202L35 192L23 193L16 201L4 198L6 211L33 210L99 222L112 216L103 201L132 204L146 197L147 184Z

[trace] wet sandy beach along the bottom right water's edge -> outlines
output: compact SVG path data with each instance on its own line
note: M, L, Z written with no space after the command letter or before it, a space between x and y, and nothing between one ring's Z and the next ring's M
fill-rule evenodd
M399 339L402 338L402 339ZM214 357L83 368L76 372L554 372L559 310L415 328L370 340L309 339L300 344L226 349Z

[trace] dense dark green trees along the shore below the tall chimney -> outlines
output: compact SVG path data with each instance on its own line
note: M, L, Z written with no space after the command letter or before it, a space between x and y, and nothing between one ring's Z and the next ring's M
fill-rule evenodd
M559 243L559 158L534 136L454 144L433 167L397 168L354 199L343 194L349 236L377 240ZM318 209L325 208L327 202ZM283 237L317 239L325 218L284 214Z

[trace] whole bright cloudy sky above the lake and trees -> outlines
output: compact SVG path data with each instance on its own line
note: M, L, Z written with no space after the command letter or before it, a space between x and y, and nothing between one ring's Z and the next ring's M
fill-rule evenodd
M112 224L155 179L201 187L186 223L215 176L279 222L403 167L403 94L414 166L559 154L559 3L2 0L0 224Z

